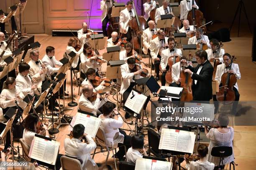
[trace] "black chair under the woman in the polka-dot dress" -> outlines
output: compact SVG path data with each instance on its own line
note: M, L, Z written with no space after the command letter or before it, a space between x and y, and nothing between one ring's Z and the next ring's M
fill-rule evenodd
M223 158L232 155L233 150L230 146L215 146L212 148L211 155L220 158L219 166L223 165ZM233 165L233 170L235 170L235 165L237 165L234 161L229 163L229 170L231 170L231 165ZM225 166L225 165L223 165Z

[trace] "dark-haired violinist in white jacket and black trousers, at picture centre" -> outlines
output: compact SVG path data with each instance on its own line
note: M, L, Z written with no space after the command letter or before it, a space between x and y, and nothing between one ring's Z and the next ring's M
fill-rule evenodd
M135 64L135 58L128 58L127 63L120 66L121 74L122 74L122 85L120 88L120 94L123 95L123 103L126 102L129 94L131 93L133 87L136 85L135 79L142 78L141 70L137 69ZM125 118L129 117L128 112L125 114Z

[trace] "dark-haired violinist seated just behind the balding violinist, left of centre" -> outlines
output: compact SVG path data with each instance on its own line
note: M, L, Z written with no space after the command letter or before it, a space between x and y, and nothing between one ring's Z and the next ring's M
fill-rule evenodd
M84 81L82 82L82 86L85 86L85 85L92 85L92 81L95 80L95 77L96 77L96 72L93 68L88 68L87 69L87 72L86 72L86 77L84 79ZM98 85L97 87L95 87L95 89L93 89L94 92L96 92L95 90L97 91L100 91L100 92L108 92L110 91L110 86L108 87L105 87L105 81L102 81L100 83L100 85Z

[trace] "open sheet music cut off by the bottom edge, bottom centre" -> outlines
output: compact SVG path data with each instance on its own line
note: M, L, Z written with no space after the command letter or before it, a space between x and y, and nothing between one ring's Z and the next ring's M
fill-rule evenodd
M151 160L138 158L135 164L135 170L171 170L172 163L160 160Z

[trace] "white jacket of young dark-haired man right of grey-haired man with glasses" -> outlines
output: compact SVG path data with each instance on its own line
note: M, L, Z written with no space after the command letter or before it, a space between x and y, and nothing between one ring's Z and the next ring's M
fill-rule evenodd
M44 63L46 67L46 72L48 75L51 75L54 72L58 72L59 68L56 68L55 65L61 67L63 64L56 60L55 56L53 56L51 59L50 57L46 54L44 55L42 62Z

